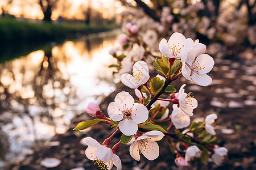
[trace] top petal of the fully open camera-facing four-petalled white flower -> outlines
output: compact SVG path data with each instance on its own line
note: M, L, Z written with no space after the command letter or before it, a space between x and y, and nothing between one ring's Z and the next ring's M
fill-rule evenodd
M126 91L119 92L119 94L115 96L114 101L115 101L116 107L118 107L117 104L119 104L121 108L123 107L131 108L131 106L134 104L133 96L131 96L129 92L126 92Z

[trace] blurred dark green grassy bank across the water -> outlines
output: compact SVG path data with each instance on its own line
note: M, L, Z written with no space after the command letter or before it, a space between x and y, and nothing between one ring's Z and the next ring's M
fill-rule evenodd
M17 18L0 18L0 44L9 43L36 43L49 40L59 40L65 37L75 37L88 33L106 31L117 28L115 23L90 24L82 22L42 22L35 20L28 22Z

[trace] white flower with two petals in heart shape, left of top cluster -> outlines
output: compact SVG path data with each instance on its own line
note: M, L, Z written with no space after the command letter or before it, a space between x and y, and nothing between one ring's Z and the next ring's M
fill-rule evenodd
M138 88L142 84L147 83L149 78L148 66L144 61L137 61L134 63L133 75L127 73L121 75L122 83L130 88Z

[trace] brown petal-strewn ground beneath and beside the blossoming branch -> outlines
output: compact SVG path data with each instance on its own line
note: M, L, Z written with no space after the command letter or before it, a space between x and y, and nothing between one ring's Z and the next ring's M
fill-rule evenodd
M179 78L173 85L179 88L186 83L186 91L193 91L193 95L199 101L199 107L195 109L193 118L205 117L210 113L217 113L218 120L216 132L218 144L228 148L228 156L221 166L212 162L208 164L194 163L187 169L256 169L256 112L255 91L256 74L254 60L215 59L215 66L210 72L213 83L207 87L201 87ZM124 86L117 86L117 90L106 97L101 103L101 110L106 111L108 104L114 100L114 96L120 91L133 91ZM106 113L106 112L105 112ZM106 114L105 114L106 115ZM96 138L103 142L114 131L110 125L104 122L93 126L82 133L72 131L78 122L88 120L86 113L77 115L65 134L58 134L43 146L35 148L32 155L14 166L13 169L47 169L40 165L44 158L54 157L61 160L61 164L52 169L72 169L84 167L84 169L99 169L86 158L80 140L84 137ZM117 143L120 135L113 138ZM59 142L54 142L59 141ZM57 144L56 144L57 143ZM179 169L174 164L175 156L171 154L166 139L159 142L160 156L154 161L148 161L141 156L137 162L129 154L129 146L121 145L117 154L122 160L122 169Z

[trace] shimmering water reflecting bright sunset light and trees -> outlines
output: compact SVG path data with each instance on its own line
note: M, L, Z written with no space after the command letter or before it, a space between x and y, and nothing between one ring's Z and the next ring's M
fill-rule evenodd
M117 32L66 41L0 65L0 168L65 133L89 101L114 90Z

